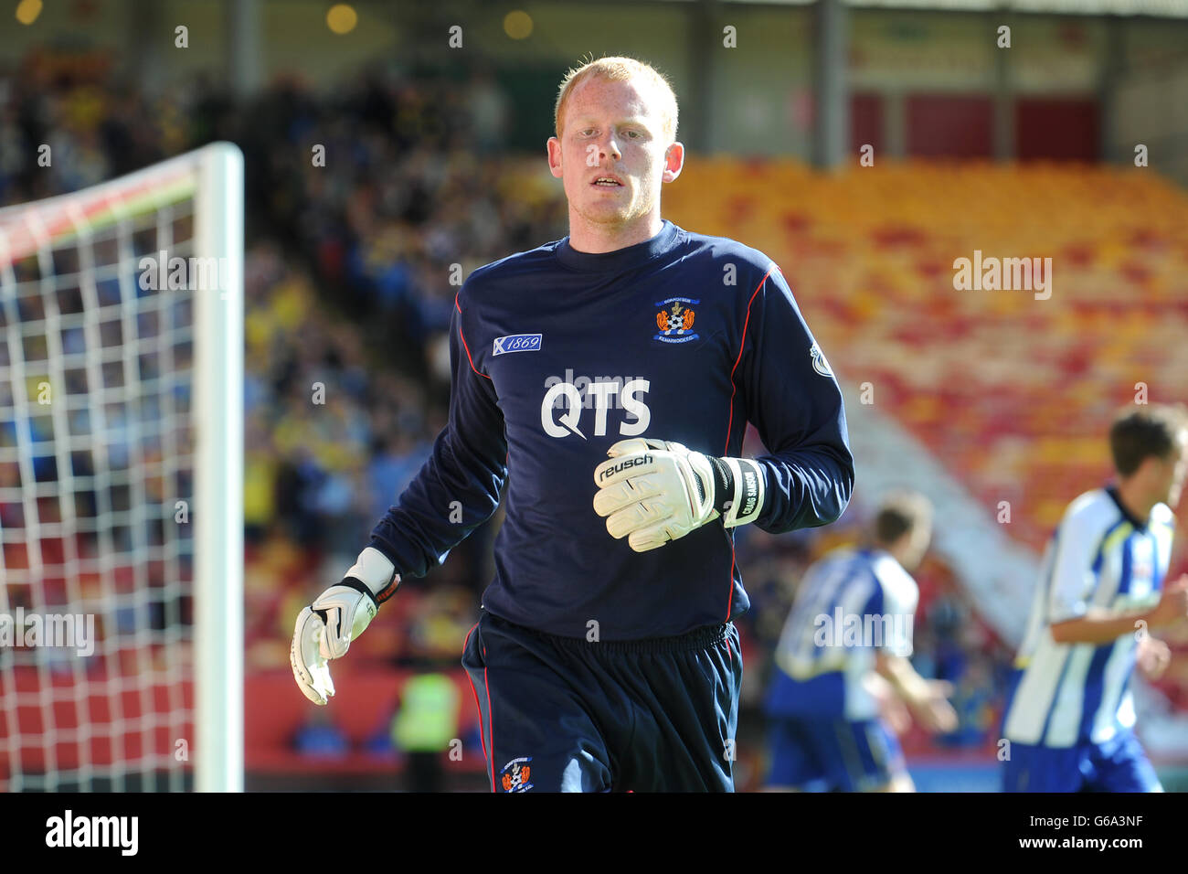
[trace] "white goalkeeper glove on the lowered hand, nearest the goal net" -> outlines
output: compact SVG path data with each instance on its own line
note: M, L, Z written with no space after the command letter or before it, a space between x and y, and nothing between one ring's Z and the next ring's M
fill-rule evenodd
M347 654L350 641L375 618L400 577L379 549L368 546L339 585L330 586L297 616L289 664L305 697L326 704L334 696L330 660Z

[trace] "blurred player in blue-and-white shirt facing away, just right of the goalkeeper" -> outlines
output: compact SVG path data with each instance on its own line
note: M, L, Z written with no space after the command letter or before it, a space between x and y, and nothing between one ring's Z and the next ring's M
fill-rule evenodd
M912 792L896 740L908 713L930 731L956 728L949 684L908 660L920 599L910 571L931 516L922 495L891 496L867 547L835 549L805 572L767 691L769 791Z

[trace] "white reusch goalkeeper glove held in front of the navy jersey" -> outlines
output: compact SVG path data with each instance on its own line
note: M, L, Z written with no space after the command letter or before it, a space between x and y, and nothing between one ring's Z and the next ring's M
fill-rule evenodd
M764 478L746 458L715 458L668 440L631 438L594 469L594 511L636 552L664 546L721 517L726 528L763 510Z

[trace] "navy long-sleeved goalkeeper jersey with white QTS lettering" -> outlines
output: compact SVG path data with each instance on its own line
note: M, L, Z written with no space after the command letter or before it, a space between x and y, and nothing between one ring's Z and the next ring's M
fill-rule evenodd
M482 606L510 622L638 640L747 609L721 520L644 553L607 533L594 469L619 440L738 457L750 421L769 449L752 524L821 526L849 501L838 382L779 268L735 240L665 220L613 252L565 237L508 256L466 279L449 344L448 423L371 546L423 576L494 514L506 482Z

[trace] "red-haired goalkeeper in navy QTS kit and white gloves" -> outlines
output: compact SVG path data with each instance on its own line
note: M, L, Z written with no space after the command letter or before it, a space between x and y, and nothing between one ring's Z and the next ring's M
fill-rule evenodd
M569 235L475 270L449 422L340 585L297 620L318 704L403 576L494 514L462 664L493 791L732 791L748 606L733 529L826 524L853 488L841 391L770 258L661 218L680 175L656 70L571 70L549 168ZM771 452L740 458L746 422Z

